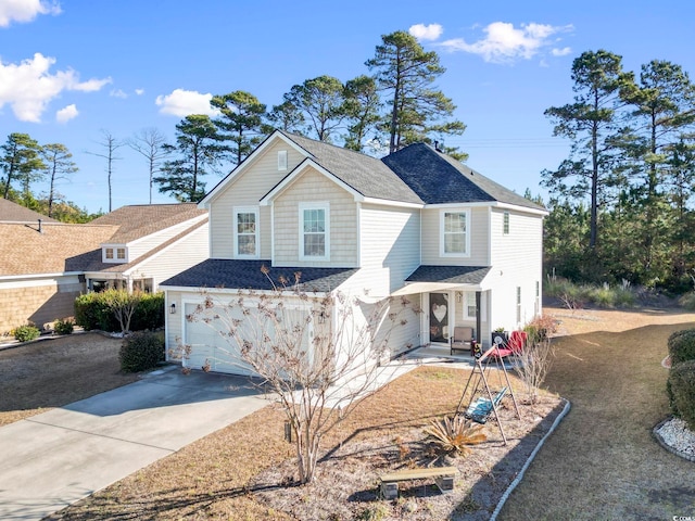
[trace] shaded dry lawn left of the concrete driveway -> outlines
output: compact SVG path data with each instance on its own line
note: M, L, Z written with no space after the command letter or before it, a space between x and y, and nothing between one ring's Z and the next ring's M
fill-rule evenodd
M0 425L136 381L121 372L121 343L78 333L0 350Z

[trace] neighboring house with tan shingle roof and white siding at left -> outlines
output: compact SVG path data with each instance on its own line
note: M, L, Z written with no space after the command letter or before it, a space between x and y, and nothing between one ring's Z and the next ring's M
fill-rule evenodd
M8 203L0 200L0 334L73 316L75 297L90 290L156 291L207 257L207 212L194 204L124 206L70 225Z

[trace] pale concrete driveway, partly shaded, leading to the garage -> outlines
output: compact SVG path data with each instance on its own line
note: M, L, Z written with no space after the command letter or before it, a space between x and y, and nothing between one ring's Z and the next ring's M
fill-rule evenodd
M0 428L0 519L39 520L268 402L248 379L143 380Z

